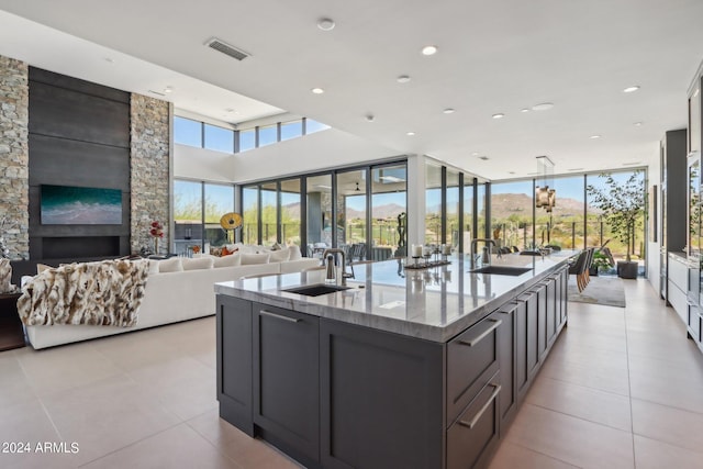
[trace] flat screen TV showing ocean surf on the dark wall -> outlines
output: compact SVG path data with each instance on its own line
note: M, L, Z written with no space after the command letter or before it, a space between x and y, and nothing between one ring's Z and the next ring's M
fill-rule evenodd
M122 191L119 189L42 186L43 225L120 225Z

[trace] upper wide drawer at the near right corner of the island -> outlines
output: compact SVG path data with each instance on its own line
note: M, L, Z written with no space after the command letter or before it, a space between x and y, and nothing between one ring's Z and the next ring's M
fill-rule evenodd
M498 328L488 316L447 344L447 427L498 372Z

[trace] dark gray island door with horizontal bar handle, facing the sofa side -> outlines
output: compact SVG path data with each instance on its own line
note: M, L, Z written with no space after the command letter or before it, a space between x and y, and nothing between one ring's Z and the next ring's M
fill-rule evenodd
M320 320L258 303L254 317L254 423L281 449L316 461Z

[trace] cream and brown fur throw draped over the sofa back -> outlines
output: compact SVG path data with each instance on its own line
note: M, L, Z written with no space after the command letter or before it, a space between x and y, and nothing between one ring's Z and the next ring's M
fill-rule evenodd
M18 313L25 325L136 324L149 261L102 260L44 270L22 288Z

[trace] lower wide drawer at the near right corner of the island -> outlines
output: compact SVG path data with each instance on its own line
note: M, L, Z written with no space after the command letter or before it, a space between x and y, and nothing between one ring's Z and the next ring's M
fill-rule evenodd
M447 431L447 469L483 467L493 454L499 437L498 376L483 387L479 395Z

